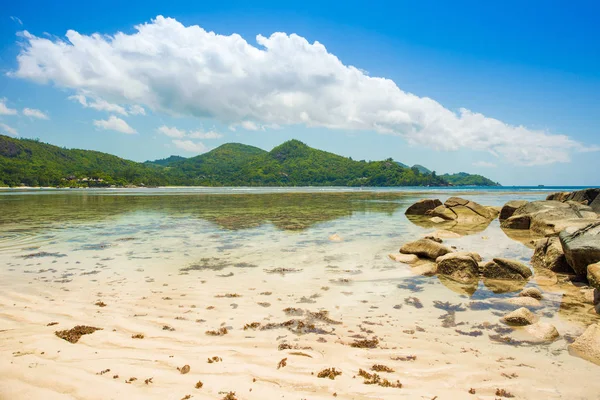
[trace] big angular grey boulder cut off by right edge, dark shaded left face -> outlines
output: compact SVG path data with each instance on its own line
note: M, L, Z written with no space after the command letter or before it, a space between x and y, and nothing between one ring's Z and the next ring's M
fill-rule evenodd
M567 262L577 275L586 276L587 266L600 261L600 221L584 228L567 228L558 236Z

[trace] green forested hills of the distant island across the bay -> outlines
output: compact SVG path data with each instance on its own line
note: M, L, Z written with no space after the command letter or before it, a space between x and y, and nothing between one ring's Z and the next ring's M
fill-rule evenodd
M438 175L388 158L356 161L298 140L271 151L240 143L138 163L0 135L0 186L500 186L481 175Z

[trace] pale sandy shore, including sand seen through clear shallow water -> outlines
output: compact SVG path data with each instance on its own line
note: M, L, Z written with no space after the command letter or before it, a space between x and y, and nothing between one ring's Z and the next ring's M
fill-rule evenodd
M111 222L119 229L69 226L41 245L40 232L32 243L11 237L0 255L0 399L597 397L600 367L567 351L598 320L578 287L539 286L535 313L561 337L528 343L524 329L499 322L518 308L504 302L517 291L497 294L480 282L469 297L388 258L432 232L401 211L300 232L158 217L151 229L148 215L133 213ZM444 241L484 259L532 253L497 221ZM77 343L55 335L77 325L102 330ZM319 378L326 368L342 374ZM402 387L365 384L361 369Z

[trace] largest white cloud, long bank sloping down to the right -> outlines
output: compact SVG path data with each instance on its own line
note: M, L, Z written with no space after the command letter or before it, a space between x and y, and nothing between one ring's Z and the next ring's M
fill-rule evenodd
M86 91L120 104L214 118L235 128L302 124L404 137L439 150L487 151L510 162L567 162L586 146L565 135L458 112L344 65L319 42L276 32L258 46L156 17L137 32L67 40L28 32L11 76ZM587 146L598 150L598 147Z

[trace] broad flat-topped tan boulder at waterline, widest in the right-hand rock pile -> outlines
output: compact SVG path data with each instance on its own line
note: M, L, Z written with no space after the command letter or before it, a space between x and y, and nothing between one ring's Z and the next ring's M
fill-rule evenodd
M543 236L554 236L567 227L584 227L597 221L591 207L574 201L532 201L519 207L511 217L504 220L502 228L530 229Z

